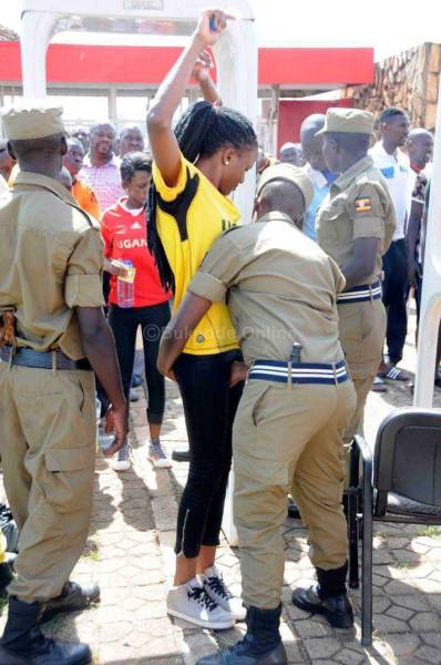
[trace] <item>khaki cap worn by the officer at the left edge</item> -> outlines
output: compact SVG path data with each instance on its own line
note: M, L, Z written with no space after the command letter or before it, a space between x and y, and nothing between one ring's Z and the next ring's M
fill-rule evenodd
M2 109L1 120L9 141L44 139L65 133L62 113L63 109L42 100L24 100L22 105Z

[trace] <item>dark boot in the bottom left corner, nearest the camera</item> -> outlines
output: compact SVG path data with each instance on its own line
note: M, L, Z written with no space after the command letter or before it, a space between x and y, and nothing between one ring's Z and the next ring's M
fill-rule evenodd
M9 615L0 640L1 665L89 665L86 644L48 640L40 630L41 603L9 598Z

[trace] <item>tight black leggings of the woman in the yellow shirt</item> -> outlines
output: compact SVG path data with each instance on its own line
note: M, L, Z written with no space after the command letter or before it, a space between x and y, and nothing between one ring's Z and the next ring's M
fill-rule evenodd
M175 553L188 559L201 545L218 545L232 466L232 429L243 383L229 388L239 351L209 356L182 354L174 371L184 405L189 471L177 515Z

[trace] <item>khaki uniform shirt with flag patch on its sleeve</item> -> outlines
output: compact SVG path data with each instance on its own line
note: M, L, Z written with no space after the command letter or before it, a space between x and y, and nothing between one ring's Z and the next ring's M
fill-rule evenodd
M394 229L396 216L388 187L369 156L331 184L317 213L318 243L340 267L352 258L353 241L381 241L375 270L360 286L373 284L381 276L381 256L388 250Z

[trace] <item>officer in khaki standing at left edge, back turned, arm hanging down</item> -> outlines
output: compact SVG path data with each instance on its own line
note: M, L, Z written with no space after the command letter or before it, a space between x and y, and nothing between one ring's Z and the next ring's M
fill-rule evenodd
M40 623L99 597L69 575L89 532L96 451L93 371L127 431L113 338L102 313L96 223L58 181L61 109L2 114L20 174L0 202L0 454L19 528L2 665L85 665L88 645L47 640Z

